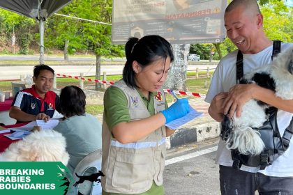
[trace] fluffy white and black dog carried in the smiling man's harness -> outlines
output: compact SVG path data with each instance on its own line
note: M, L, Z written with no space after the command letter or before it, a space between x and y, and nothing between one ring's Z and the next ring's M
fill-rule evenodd
M293 46L278 54L271 64L244 75L241 83L255 83L275 91L276 96L283 100L292 100ZM225 120L230 120L232 128L230 137L225 141L227 148L238 149L243 155L260 155L264 142L260 132L253 128L262 127L267 118L265 110L269 107L264 102L250 100L244 104L240 118L236 114L232 120L225 117Z

